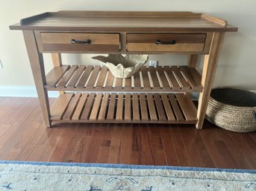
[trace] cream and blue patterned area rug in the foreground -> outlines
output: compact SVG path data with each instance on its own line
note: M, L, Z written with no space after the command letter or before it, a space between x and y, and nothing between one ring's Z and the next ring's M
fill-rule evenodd
M1 161L0 190L256 190L256 171Z

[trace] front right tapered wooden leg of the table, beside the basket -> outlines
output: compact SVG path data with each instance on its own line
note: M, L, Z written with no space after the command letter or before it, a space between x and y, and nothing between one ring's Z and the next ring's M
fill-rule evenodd
M196 124L197 129L202 129L205 120L205 113L210 97L210 91L213 86L213 80L217 68L219 51L222 46L223 37L223 32L214 32L213 39L210 45L210 53L205 55L204 68L202 71L202 85L204 88L202 93L200 93L199 95L199 107L197 111L197 117L199 121Z

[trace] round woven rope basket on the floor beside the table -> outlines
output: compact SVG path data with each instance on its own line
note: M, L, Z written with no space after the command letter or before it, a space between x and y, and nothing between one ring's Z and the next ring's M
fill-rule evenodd
M256 94L234 88L211 91L206 119L233 132L256 131Z

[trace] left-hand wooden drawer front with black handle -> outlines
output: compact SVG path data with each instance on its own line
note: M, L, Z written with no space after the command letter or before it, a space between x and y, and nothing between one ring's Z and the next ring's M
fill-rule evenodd
M119 51L119 33L40 33L43 51Z

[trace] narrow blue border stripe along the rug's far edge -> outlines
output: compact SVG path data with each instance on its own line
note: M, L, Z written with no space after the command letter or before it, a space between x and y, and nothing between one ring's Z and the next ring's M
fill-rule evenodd
M38 161L0 161L0 164L29 164L45 166L80 166L80 167L101 167L116 169L172 169L199 172L235 172L256 174L256 169L220 169L190 166L153 166L153 165L132 165L132 164L90 164L90 163L60 163L60 162L38 162Z

